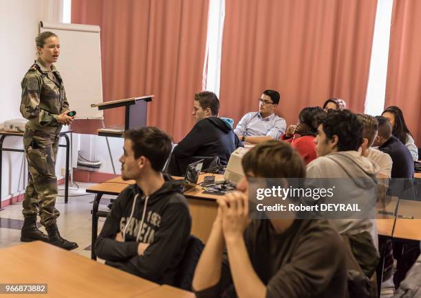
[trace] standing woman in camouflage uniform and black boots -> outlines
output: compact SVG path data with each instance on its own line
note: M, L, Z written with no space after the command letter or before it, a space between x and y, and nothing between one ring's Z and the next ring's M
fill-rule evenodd
M60 44L56 34L43 32L35 38L38 59L21 82L21 114L28 119L23 146L28 159L30 177L23 200L21 241L43 240L63 249L76 249L78 244L61 238L54 207L57 196L55 173L58 139L61 126L72 123L67 115L69 103L63 80L53 63L58 60ZM48 236L36 227L36 214Z

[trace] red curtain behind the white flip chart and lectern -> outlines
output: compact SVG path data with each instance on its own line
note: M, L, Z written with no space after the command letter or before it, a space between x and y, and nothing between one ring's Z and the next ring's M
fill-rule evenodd
M72 0L72 23L101 28L104 101L155 95L148 125L175 141L193 126L207 21L208 0ZM106 126L123 122L122 108L105 111Z

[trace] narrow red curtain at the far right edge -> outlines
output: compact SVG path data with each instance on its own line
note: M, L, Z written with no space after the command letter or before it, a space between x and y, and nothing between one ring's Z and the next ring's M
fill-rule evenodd
M393 1L385 107L402 109L421 147L421 1Z

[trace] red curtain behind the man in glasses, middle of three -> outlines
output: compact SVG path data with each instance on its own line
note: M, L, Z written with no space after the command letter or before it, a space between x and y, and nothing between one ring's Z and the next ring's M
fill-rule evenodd
M376 0L229 0L222 45L220 115L257 111L265 89L296 123L305 106L343 98L363 112Z

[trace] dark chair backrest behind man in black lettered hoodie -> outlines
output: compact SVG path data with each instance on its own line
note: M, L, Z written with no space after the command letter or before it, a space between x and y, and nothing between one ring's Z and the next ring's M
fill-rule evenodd
M191 290L193 275L203 249L204 243L199 238L193 235L188 238L186 252L182 262L180 262L175 286L184 290Z

